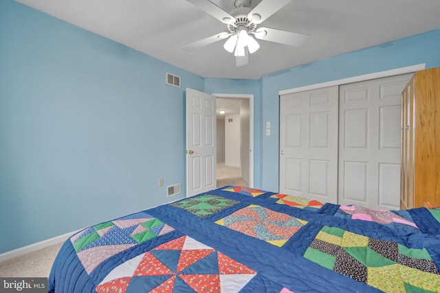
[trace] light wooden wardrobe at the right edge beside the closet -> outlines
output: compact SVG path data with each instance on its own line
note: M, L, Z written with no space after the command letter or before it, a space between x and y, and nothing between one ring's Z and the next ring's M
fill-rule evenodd
M415 73L401 107L400 208L440 205L440 67Z

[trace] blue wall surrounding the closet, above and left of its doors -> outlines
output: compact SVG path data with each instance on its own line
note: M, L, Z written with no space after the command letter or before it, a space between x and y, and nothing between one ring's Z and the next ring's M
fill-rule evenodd
M421 63L440 67L440 30L263 75L261 121L272 129L262 141L261 188L278 191L279 91Z

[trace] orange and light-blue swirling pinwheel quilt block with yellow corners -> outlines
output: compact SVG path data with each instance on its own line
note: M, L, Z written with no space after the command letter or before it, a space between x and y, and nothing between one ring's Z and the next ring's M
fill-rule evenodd
M281 247L307 221L251 204L215 223Z

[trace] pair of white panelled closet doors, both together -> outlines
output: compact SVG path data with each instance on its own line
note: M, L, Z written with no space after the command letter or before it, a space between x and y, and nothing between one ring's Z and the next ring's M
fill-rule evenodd
M280 97L280 192L399 209L401 92L412 73Z

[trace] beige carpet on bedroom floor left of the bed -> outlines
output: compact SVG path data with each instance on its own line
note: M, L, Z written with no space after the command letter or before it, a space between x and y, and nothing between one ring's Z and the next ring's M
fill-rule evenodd
M49 277L52 263L61 248L55 244L0 263L0 277Z

